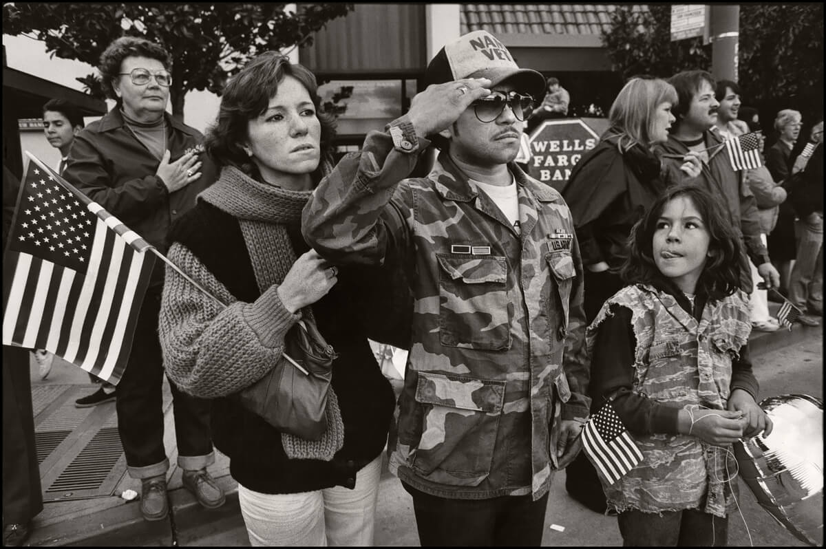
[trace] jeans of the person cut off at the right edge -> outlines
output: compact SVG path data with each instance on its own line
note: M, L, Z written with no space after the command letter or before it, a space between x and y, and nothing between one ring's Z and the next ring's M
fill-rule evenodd
M824 215L815 211L796 221L798 233L797 260L791 270L789 301L809 310L822 313L824 308Z

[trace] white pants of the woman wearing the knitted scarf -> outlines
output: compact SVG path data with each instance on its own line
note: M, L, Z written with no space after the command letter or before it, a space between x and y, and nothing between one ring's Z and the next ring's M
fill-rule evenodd
M299 494L261 494L238 485L253 547L372 546L382 456L356 475L354 490L334 486Z

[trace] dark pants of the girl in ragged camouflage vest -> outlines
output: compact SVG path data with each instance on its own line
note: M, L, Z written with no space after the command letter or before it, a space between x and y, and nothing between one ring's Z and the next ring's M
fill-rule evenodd
M623 547L724 547L729 541L729 518L699 509L617 515Z

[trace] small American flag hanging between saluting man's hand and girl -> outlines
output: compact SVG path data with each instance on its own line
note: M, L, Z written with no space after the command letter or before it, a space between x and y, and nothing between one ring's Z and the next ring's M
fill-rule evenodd
M610 402L592 415L582 429L582 449L610 484L643 461L643 453Z

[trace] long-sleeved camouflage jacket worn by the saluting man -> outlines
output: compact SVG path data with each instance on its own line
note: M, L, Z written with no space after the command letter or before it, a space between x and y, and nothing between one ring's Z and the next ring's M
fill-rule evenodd
M408 178L417 149L373 131L307 204L305 239L335 263L395 253L414 295L411 350L391 471L454 499L542 497L562 419L584 419L582 260L570 211L514 163L520 234L440 154ZM398 131L398 130L396 130ZM563 348L576 349L566 353ZM554 390L555 389L555 390Z

